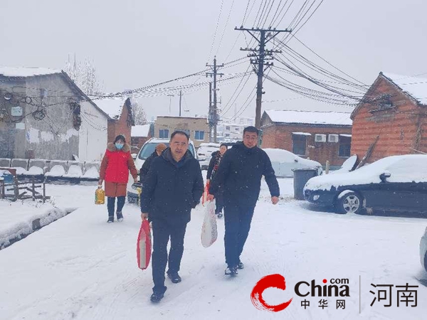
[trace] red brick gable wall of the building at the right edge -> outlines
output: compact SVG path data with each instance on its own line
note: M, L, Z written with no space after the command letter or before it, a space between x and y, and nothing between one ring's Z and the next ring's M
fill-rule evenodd
M394 108L372 112L372 110L379 110L379 105L365 103L358 107L353 119L352 154L357 154L359 159L362 159L377 135L379 140L367 159L368 163L385 156L413 154L414 151L411 148L421 147L420 151L426 151L427 140L423 139L421 144L416 144L418 125L421 127L427 125L423 124L418 116L423 112L422 108L381 76L374 82L370 91L375 93L369 93L369 97L381 94L391 95Z

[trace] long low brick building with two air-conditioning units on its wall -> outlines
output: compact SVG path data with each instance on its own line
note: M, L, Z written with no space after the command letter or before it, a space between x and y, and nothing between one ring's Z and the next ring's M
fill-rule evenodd
M261 118L263 148L291 151L325 166L339 167L350 156L352 120L345 112L267 110Z

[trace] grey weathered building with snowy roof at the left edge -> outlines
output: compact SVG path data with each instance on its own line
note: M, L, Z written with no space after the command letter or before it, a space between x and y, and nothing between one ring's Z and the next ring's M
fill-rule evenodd
M102 159L108 114L62 70L0 67L0 158Z

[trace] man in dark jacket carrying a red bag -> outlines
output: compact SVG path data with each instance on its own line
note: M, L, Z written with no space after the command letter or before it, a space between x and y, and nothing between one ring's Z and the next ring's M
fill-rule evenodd
M169 148L152 161L141 193L141 218L152 221L153 294L159 302L166 292L164 271L168 262L167 243L171 238L168 277L181 282L178 271L184 252L184 235L191 208L196 208L204 191L199 162L189 149L189 136L176 131Z

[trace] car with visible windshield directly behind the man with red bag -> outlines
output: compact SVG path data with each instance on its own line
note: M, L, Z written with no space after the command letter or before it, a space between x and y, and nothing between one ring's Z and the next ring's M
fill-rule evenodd
M142 164L144 164L145 160L147 160L147 158L151 156L151 154L154 152L158 144L166 144L167 146L169 146L169 139L160 139L160 138L149 139L147 140L147 142L144 143L142 148L139 150L138 155L135 159L135 166L138 171L138 181L139 181L139 170L141 169ZM194 147L194 142L192 142L191 140L189 142L189 151L197 159L196 148ZM133 182L132 176L129 176L129 180L127 181L127 201L129 201L130 203L136 203L138 201L137 188L134 184L135 183Z

